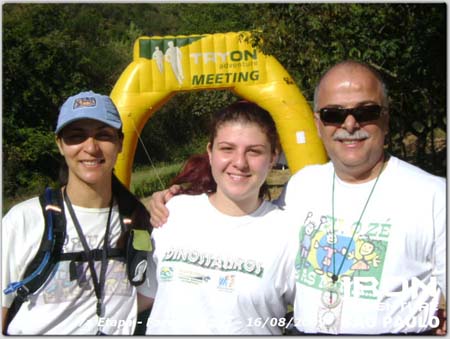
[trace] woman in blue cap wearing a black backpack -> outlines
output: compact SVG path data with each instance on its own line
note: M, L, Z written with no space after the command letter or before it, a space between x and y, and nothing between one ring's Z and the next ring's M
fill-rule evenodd
M61 107L55 134L65 162L62 187L54 191L60 205L35 197L3 218L2 283L8 286L3 333L133 333L138 313L133 285L141 282L133 272L142 275L146 262L130 269L137 257L129 244L133 236L142 236L137 229L148 234L151 226L144 206L113 174L122 150L121 128L117 108L105 95L82 92ZM50 223L54 233L48 231ZM63 231L58 233L60 224ZM62 240L56 234L64 234ZM58 241L59 252L48 244ZM43 258L35 264L39 267L30 269L38 257ZM42 278L39 270L52 260L56 263ZM39 286L30 293L33 281Z

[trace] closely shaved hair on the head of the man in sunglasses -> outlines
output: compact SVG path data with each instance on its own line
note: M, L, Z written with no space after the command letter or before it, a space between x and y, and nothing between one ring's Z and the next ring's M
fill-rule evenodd
M388 108L387 89L380 73L369 65L353 60L347 60L332 66L320 78L319 83L317 84L314 91L314 112L317 112L320 109L319 102L320 95L324 87L323 84L326 84L328 81L334 80L336 78L351 79L352 74L354 73L365 74L367 75L368 81L376 82L375 87L378 87L380 90L382 105ZM351 84L348 83L347 85Z

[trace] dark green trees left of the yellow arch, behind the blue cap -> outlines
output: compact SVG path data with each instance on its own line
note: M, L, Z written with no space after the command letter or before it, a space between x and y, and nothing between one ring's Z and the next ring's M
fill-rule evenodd
M6 196L34 194L57 178L53 130L59 107L82 90L111 91L143 34L127 16L136 10L126 4L3 6ZM154 13L155 7L146 10Z

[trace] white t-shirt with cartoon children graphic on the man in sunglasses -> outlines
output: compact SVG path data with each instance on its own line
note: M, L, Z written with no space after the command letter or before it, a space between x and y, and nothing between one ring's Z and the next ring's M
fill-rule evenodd
M357 226L375 179L349 184L336 176L333 236L333 171L331 163L304 168L280 199L303 225L296 327L344 334L436 327L446 284L445 180L391 157ZM330 285L333 273L339 280Z

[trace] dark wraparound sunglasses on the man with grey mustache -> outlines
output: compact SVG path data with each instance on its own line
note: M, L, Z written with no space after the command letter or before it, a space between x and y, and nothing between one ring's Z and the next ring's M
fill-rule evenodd
M324 107L319 110L320 120L326 124L343 124L349 115L358 122L378 120L384 107L380 105L358 106L353 108Z

